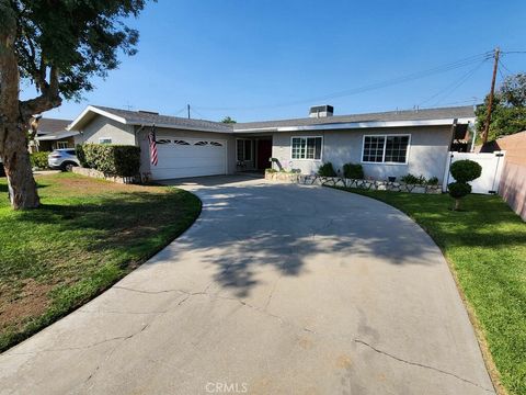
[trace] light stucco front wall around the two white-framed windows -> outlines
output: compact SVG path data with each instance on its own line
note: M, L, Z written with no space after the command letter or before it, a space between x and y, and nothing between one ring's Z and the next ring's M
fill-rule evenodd
M384 134L411 135L407 165L362 163L363 136ZM293 160L290 158L290 138L293 136L323 137L321 160ZM273 135L272 156L277 158L285 169L299 169L307 174L316 172L323 162L332 162L336 171L344 163L353 162L362 163L365 176L377 180L386 180L390 176L400 178L411 172L427 178L437 177L442 182L450 139L450 126L281 132Z

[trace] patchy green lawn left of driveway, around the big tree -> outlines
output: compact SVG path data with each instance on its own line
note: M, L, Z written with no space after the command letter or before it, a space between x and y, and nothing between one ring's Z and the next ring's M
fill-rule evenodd
M201 201L168 187L37 178L42 207L12 211L0 179L0 351L115 283L183 233Z

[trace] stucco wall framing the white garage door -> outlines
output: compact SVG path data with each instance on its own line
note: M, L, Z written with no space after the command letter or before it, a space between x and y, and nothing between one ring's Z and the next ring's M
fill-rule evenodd
M138 126L136 126L139 129ZM150 154L149 154L149 142L148 133L150 132L149 127L142 128L137 134L138 144L140 147L140 172L150 171ZM187 137L187 138L216 138L227 142L227 172L228 174L233 174L236 172L236 138L226 133L214 133L214 132L194 132L194 131L181 131L172 128L156 128L156 138L172 138L173 137Z

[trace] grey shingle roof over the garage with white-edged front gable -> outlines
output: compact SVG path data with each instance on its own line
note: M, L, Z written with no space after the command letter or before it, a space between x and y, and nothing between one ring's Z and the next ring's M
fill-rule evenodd
M88 121L91 121L96 114L107 116L125 125L137 126L157 126L169 128L181 128L199 132L219 132L232 133L232 127L221 122L205 120L188 120L179 116L160 115L153 112L129 111L112 109L102 105L89 105L69 126L69 129L76 131L82 127Z

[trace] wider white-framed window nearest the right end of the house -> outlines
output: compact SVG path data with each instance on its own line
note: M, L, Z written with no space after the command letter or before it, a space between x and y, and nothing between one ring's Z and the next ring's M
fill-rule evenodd
M409 135L364 136L362 161L407 163Z

